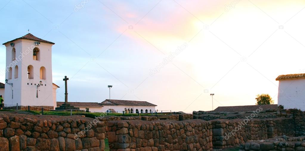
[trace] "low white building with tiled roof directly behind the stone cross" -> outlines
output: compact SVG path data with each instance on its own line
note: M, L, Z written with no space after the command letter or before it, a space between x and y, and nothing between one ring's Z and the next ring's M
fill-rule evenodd
M57 107L60 107L65 102L57 102ZM102 104L97 102L68 102L71 106L79 107L80 110L89 112L105 112L102 109Z

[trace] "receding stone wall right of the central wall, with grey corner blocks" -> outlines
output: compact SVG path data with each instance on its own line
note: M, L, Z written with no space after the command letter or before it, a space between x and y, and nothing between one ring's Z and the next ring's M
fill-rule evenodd
M249 140L262 140L279 135L294 136L292 118L211 120L213 148L236 147Z

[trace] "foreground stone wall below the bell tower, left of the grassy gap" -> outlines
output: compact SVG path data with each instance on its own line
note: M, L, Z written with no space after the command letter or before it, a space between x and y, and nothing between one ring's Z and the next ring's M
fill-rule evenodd
M104 123L92 118L0 115L0 150L102 151L105 148L104 134Z

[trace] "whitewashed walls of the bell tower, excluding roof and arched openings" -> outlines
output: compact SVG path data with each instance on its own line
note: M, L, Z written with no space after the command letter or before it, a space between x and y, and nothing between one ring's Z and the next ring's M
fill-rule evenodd
M53 89L52 89L52 44L40 43L40 46L35 46L40 49L40 61L33 60L34 41L32 40L16 40L16 58L22 56L22 61L12 61L12 49L10 44L6 44L6 66L13 68L12 79L9 83L13 83L13 87L6 84L5 87L5 106L32 105L32 106L54 106ZM29 53L28 50L30 50ZM21 57L20 57L21 58ZM18 78L14 78L14 68L18 65ZM27 67L33 65L34 79L27 78ZM40 79L40 67L46 68L46 79ZM6 72L5 78L8 79L9 73ZM36 98L37 84L42 81L43 86L38 88L38 98ZM29 84L27 84L29 83ZM35 85L36 84L36 85ZM13 98L12 98L13 90Z

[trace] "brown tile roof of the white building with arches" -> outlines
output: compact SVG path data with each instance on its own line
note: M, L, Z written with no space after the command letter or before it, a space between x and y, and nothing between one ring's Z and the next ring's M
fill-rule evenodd
M130 100L109 100L106 99L102 105L131 105L131 106L157 106L146 101L130 101Z

